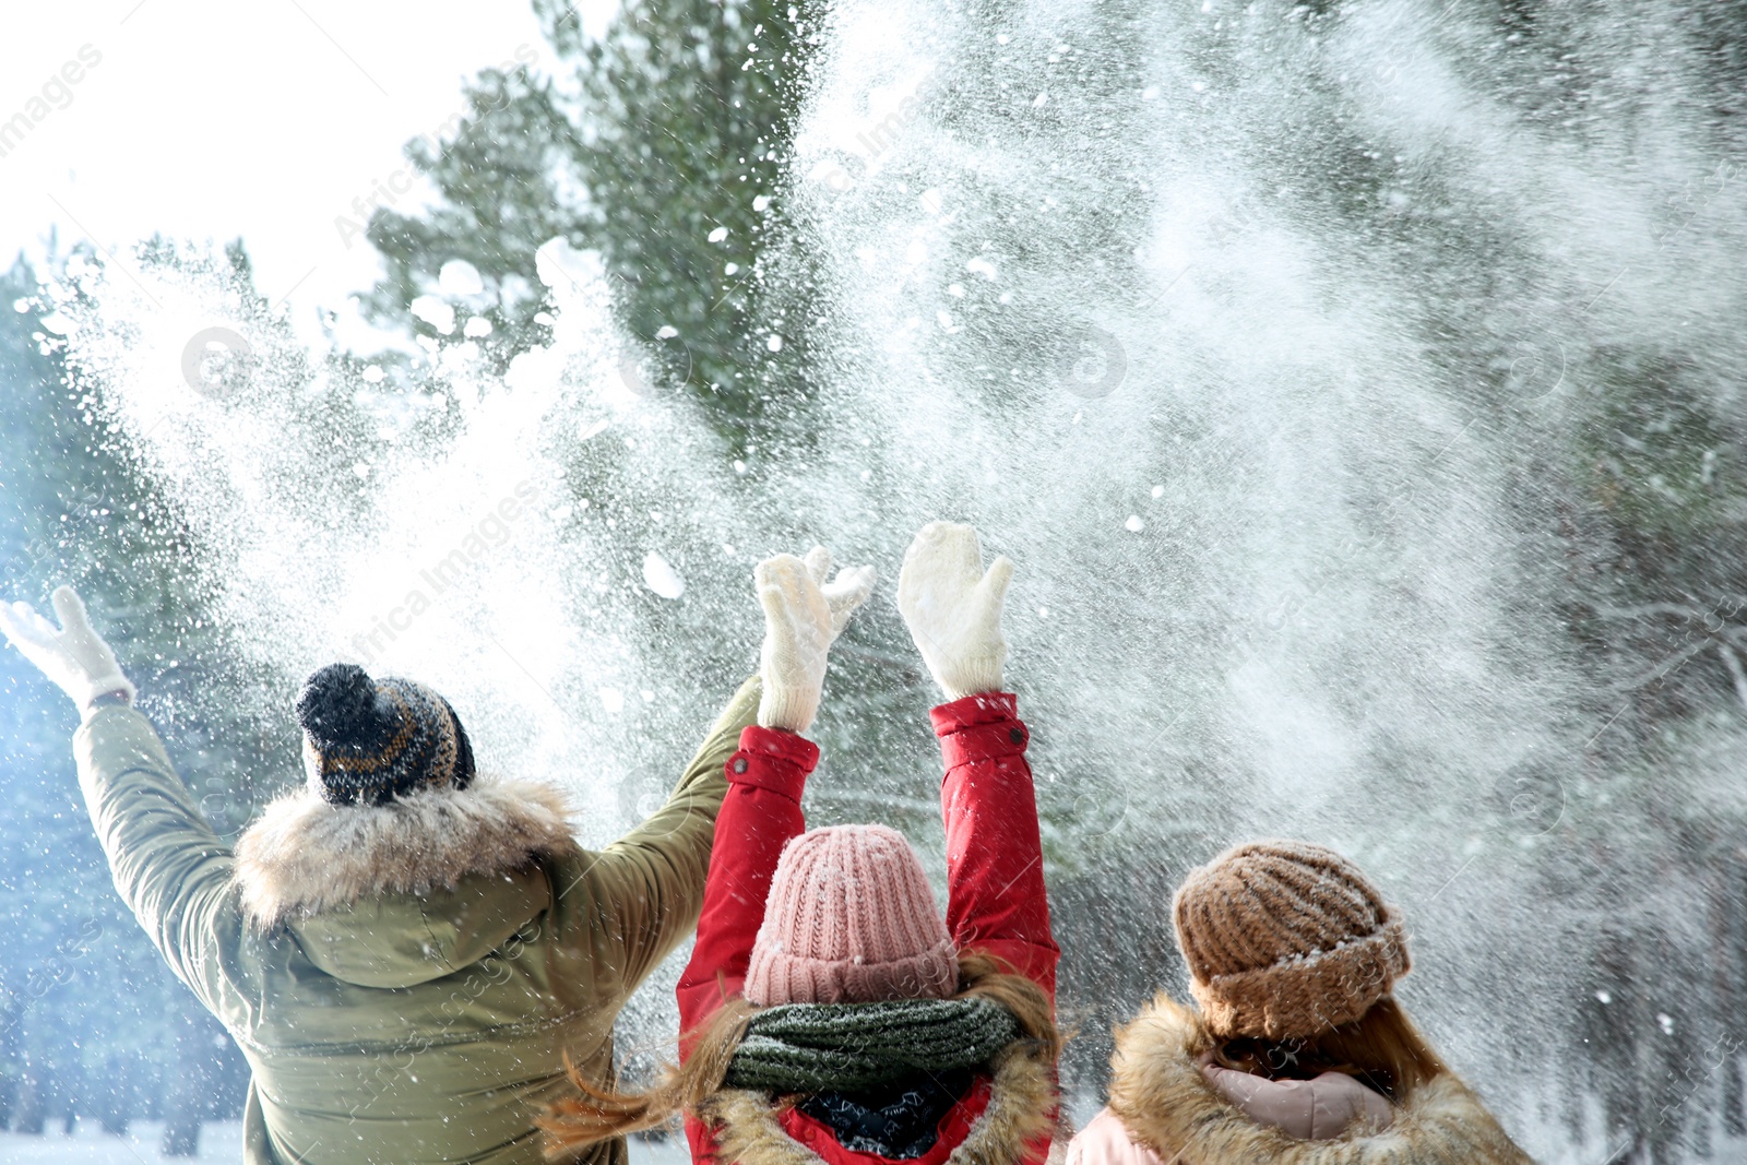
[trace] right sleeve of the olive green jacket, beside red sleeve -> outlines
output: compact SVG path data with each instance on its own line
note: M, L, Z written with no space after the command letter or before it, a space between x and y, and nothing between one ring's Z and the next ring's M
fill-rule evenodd
M697 924L716 814L728 789L723 765L741 730L758 718L758 678L741 685L680 784L643 824L596 854L559 896L585 893L615 936L611 964L631 992Z

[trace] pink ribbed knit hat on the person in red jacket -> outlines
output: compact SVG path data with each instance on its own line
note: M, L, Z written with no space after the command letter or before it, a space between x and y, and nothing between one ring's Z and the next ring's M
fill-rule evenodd
M957 948L901 833L837 824L783 847L746 969L748 1003L947 999L957 985Z

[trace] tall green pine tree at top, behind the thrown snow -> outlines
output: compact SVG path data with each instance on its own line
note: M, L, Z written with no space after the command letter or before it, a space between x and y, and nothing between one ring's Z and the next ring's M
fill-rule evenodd
M372 215L388 276L367 309L428 330L409 304L465 260L487 288L484 348L501 367L543 339L533 257L564 238L601 253L620 321L664 376L737 431L805 365L805 321L784 318L790 297L763 286L760 257L783 232L812 7L645 0L590 38L575 5L535 0L550 75L486 70L451 134L407 145L435 206Z

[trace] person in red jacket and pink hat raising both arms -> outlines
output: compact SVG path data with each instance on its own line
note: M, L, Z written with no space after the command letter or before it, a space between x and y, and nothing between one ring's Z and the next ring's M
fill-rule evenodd
M699 1165L1043 1165L1055 1125L1055 964L1029 732L1001 692L1013 564L984 573L970 526L915 536L898 608L947 702L949 903L880 824L807 830L825 658L847 590L830 559L756 569L767 634L758 723L728 760L697 947L680 976L678 1069L648 1092L578 1092L557 1148L687 1116Z

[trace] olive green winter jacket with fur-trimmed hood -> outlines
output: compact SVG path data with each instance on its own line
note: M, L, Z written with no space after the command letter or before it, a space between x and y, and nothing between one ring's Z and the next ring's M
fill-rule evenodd
M484 777L383 807L299 791L232 851L145 716L98 709L73 742L115 889L253 1069L250 1165L500 1165L543 1160L566 1053L611 1078L613 1018L697 924L756 711L749 679L667 803L599 852L549 789Z

